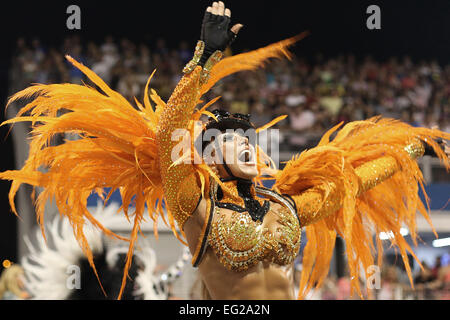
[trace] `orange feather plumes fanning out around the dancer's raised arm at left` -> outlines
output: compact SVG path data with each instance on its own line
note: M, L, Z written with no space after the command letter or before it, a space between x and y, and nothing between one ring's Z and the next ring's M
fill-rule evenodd
M304 35L226 58L213 67L206 84L193 90L201 90L204 94L214 83L227 75L263 66L264 61L269 58L283 55L289 57L287 47ZM31 122L29 158L22 169L0 173L0 179L12 181L9 201L16 215L14 198L20 185L26 183L42 187L43 191L36 199L36 214L44 237L44 209L47 201L53 199L60 214L66 216L73 226L74 235L95 273L92 252L83 232L86 220L106 235L129 241L122 288L118 297L120 299L140 224L144 220L145 206L150 218L155 221L155 226L158 216L162 216L167 224L166 214L173 233L184 243L182 240L184 234L175 227L170 210L163 209L164 192L156 131L161 111L166 104L154 90L148 93L149 82L154 73L149 77L145 87L143 104L135 99L137 108L134 108L89 68L70 56L66 58L100 91L87 85L65 83L37 84L14 94L9 99L8 105L19 99L34 99L21 108L15 118L3 122L2 125ZM150 104L149 95L156 104L154 108ZM198 103L200 102L199 100ZM198 120L201 114L207 114L206 108L213 102L194 113L191 121ZM52 137L62 133L77 134L80 139L51 146ZM263 153L260 154L259 168L270 167L267 164L268 157ZM194 165L194 168L202 181L203 190L209 184L210 178L221 183L207 165ZM122 198L119 210L123 210L129 220L133 219L129 238L121 237L105 228L87 209L88 197L92 193L104 197L106 188L110 188L110 192L106 195L105 202L115 190L119 190ZM132 204L135 209L129 213Z

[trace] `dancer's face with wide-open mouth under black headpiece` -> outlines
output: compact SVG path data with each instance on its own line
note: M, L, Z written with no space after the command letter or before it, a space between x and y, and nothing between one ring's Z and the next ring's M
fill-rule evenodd
M256 151L249 143L248 138L237 133L222 133L217 136L217 142L214 145L219 148L214 150L214 164L221 178L227 178L229 175L222 163L225 162L231 173L241 179L253 179L258 175L256 166ZM220 161L223 155L223 162Z

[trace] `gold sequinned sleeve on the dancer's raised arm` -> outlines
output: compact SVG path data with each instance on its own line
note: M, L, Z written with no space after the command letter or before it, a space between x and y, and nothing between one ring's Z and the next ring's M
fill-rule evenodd
M197 66L186 73L172 93L166 108L161 113L157 138L159 160L166 203L178 223L183 226L197 206L201 195L194 169L190 164L173 165L172 151L180 143L173 139L177 129L187 130L194 108L200 97L200 74ZM181 155L177 155L179 157Z

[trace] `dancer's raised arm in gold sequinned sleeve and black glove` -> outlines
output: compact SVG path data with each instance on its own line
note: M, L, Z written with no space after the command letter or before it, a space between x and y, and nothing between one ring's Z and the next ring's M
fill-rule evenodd
M177 129L188 129L201 97L202 84L208 80L209 71L220 61L222 51L242 27L238 24L229 29L230 17L231 11L225 8L223 2L214 2L206 9L194 57L183 69L184 76L163 109L159 121L157 139L164 194L181 229L197 207L201 191L190 164L173 165L177 159L172 158L172 151L179 143L173 136Z

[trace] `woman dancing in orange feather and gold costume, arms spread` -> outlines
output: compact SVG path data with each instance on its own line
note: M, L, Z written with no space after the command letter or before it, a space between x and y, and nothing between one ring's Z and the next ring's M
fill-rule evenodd
M286 48L302 35L222 59L223 50L242 27L229 29L230 17L222 2L206 10L194 57L169 101L163 102L151 91L155 108L150 104L148 83L144 103L136 101L135 109L70 57L103 93L87 86L53 84L15 94L10 102L38 96L5 122L33 124L24 167L0 174L13 181L12 210L21 183L43 187L36 201L39 221L43 221L47 199L53 197L94 270L83 233L85 219L106 234L129 241L122 287L145 206L155 221L158 215L166 215L177 238L186 239L192 263L199 267L213 299L293 299L292 262L300 248L301 228L306 228L308 241L300 298L313 285L320 286L327 275L337 234L346 243L352 287L360 296L359 275L367 276L374 264L374 232L392 232L392 242L411 275L407 251L414 253L400 228L406 224L415 239L416 211L429 219L418 196L423 177L415 159L423 154L425 143L448 166L434 139L450 135L391 119L352 122L332 141L330 136L339 126L328 131L316 148L295 156L283 170L275 170L258 145L236 132L255 129L248 116L206 111L216 99L200 109L196 106L221 78L255 69L268 58L289 57ZM57 116L60 109L69 112ZM28 111L30 115L25 116ZM198 135L195 123L203 114L210 120ZM182 155L177 152L180 130L193 137ZM77 133L81 139L48 146L49 139L61 132ZM197 161L199 155L202 161ZM41 166L48 171L39 171ZM267 175L275 180L272 189L260 186ZM86 209L88 196L92 192L103 196L105 188L110 188L106 200L120 190L121 209L127 216L130 203L135 203L129 239L105 228ZM376 244L381 257L378 237Z

